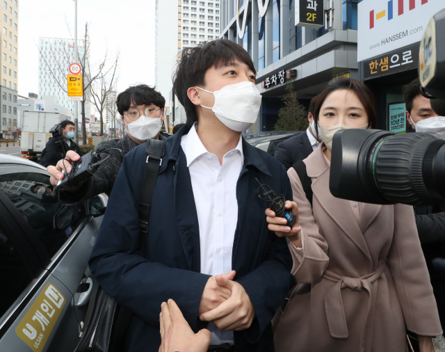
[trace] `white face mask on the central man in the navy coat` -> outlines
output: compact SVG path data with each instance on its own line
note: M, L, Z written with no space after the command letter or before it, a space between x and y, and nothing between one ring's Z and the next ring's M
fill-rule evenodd
M255 83L245 81L229 84L220 90L215 90L213 93L200 87L195 88L215 96L213 108L201 106L205 109L211 109L218 120L229 129L242 132L257 121L261 106L261 94L259 94Z

